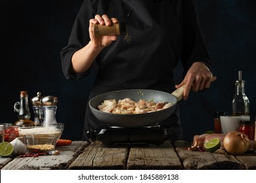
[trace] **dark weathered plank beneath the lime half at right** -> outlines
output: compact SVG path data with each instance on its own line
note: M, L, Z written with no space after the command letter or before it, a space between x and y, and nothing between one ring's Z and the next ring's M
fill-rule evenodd
M184 141L175 142L184 169L245 169L234 156L188 150Z

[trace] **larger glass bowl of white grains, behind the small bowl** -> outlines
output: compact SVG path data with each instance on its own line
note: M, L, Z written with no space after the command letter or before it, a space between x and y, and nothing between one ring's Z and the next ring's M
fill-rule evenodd
M53 123L43 125L36 125L33 127L20 127L20 137L24 137L27 134L35 135L55 135L57 136L57 141L60 139L64 130L64 124L62 123Z

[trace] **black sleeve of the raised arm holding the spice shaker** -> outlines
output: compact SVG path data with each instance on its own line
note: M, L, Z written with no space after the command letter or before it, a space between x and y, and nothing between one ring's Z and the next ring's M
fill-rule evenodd
M68 44L60 51L62 61L62 71L67 79L78 80L90 73L90 69L85 73L73 73L72 71L72 56L74 52L83 48L90 41L89 38L89 20L95 16L95 10L91 0L83 1L68 40Z

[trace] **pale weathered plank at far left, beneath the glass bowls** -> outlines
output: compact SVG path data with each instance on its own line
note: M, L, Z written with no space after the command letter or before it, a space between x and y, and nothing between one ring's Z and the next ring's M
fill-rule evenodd
M67 169L68 165L88 146L88 142L75 141L69 146L56 148L60 150L57 156L39 156L27 158L14 158L2 170L28 170L28 169Z

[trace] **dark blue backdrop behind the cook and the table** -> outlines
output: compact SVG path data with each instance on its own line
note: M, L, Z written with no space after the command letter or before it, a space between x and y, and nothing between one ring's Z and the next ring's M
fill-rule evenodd
M13 105L27 90L29 99L41 92L58 97L57 122L65 124L62 138L81 140L85 105L93 76L79 81L62 74L60 50L66 46L82 0L11 1L1 5L0 122L17 119ZM213 59L217 81L204 92L190 93L179 103L184 140L213 129L215 111L231 111L238 71L255 114L255 0L196 0L203 37ZM5 13L3 13L5 10ZM85 22L87 24L87 22ZM175 82L181 82L181 65ZM33 110L30 103L30 112Z

